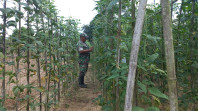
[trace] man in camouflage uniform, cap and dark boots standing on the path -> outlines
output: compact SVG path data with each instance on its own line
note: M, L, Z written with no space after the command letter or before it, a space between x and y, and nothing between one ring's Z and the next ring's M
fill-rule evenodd
M89 48L88 45L85 43L87 38L88 37L84 33L81 33L80 41L78 41L78 43L77 43L77 49L79 52L79 61L78 62L79 62L79 68L80 68L78 82L79 82L79 86L81 88L87 87L87 85L85 85L85 83L84 83L84 77L85 77L85 73L88 70L90 52L93 51L93 47Z

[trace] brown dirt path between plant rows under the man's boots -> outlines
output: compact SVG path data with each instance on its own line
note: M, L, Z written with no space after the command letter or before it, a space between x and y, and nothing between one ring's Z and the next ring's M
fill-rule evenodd
M101 94L98 83L93 82L93 76L88 71L85 76L87 88L78 86L62 99L57 111L101 111L101 107L93 100Z

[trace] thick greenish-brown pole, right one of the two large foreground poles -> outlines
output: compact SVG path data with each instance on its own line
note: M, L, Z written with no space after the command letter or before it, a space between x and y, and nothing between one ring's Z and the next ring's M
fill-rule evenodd
M178 111L175 58L172 36L171 9L168 0L162 0L163 36L165 44L166 68L168 75L170 111Z

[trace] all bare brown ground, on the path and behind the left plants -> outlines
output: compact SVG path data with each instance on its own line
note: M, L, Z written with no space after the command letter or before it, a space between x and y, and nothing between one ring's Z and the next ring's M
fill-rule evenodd
M15 60L11 58L7 58L6 61L11 62ZM31 65L36 64L35 60L31 60ZM89 66L90 67L90 66ZM32 69L36 69L36 66L31 67ZM20 61L20 73L18 75L19 78L19 85L26 85L26 69L27 64L24 60ZM6 71L12 71L15 72L16 65L14 66L8 66L6 65ZM37 74L34 74L31 72L30 77L30 83L34 86L38 87L38 77ZM41 78L45 76L45 72L41 68ZM13 77L14 80L15 77ZM8 94L8 98L5 101L5 107L8 111L14 111L15 110L15 99L9 99L9 97L13 97L13 87L16 86L15 83L8 83L9 76L6 76L6 94ZM0 80L0 83L2 81ZM44 81L42 81L42 86L44 86ZM97 81L93 80L93 75L91 74L90 70L87 72L85 76L85 83L88 85L88 88L79 88L76 84L74 84L74 87L71 87L68 93L64 97L61 98L61 101L59 103L59 106L55 108L51 108L51 111L101 111L101 107L97 104L97 102L94 102L93 100L97 98L101 92L99 91L99 83ZM0 84L1 87L2 84ZM20 94L20 98L23 98L26 95L26 91ZM39 96L39 92L32 91L31 96L35 99L37 99ZM44 95L43 95L44 96ZM44 99L44 98L43 98ZM19 108L21 111L25 111L26 104L25 102L19 103ZM44 107L43 107L44 110Z

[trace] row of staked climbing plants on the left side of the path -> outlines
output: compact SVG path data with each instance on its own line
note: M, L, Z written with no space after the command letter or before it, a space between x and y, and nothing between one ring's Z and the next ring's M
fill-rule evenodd
M23 104L27 111L30 108L49 110L57 105L77 76L77 53L73 44L78 41L78 21L58 16L50 0L2 2L15 7L0 9L1 16L6 17L6 22L1 24L1 34L7 34L2 27L14 28L10 37L1 35L5 38L6 47L1 48L5 48L6 56L0 53L0 73L5 71L0 81L2 87L14 87L12 93L7 88L1 89L6 91L0 98L0 110L5 110L2 105L10 108L6 103L13 100L15 104L11 108L16 110L23 109ZM3 58L7 60L5 63ZM14 68L7 70L6 67ZM21 80L23 76L26 81Z

